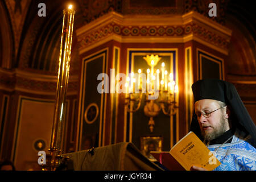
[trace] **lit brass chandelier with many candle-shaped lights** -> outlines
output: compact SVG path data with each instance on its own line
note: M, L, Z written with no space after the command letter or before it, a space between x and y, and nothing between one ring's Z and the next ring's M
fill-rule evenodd
M150 117L148 126L151 133L154 130L154 117L162 110L165 115L174 115L178 109L175 94L179 92L178 85L174 80L173 73L169 73L162 63L162 70L154 69L161 57L158 55L147 55L143 57L151 69L147 69L147 75L138 69L138 73L131 72L126 78L126 106L129 113L134 113L141 107L142 96L146 94L144 114ZM132 117L132 115L131 115Z

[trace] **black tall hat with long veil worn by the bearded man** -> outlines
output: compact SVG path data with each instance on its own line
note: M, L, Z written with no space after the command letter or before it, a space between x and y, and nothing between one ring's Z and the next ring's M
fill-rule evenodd
M256 146L255 124L232 83L217 79L198 80L192 85L192 90L194 102L203 99L212 99L225 102L226 105L230 106L232 127L236 127L237 129L250 134L254 140L253 145L254 147ZM191 131L203 140L195 111L193 114L195 117L192 117Z

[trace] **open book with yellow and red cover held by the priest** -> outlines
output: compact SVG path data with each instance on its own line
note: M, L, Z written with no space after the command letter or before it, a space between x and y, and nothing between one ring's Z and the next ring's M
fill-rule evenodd
M221 164L192 131L179 140L169 152L151 151L150 154L171 171L189 171L192 166L212 171Z

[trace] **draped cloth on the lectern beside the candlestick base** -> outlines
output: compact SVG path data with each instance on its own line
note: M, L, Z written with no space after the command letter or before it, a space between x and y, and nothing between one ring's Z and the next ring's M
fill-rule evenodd
M155 171L163 170L148 160L133 143L121 142L94 148L93 152L83 150L64 154L73 161L75 171Z

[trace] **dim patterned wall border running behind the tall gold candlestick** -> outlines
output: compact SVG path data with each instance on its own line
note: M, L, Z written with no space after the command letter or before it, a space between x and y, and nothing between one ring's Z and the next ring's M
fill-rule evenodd
M57 76L28 73L19 69L15 69L14 71L0 69L0 90L55 95L56 85ZM69 77L67 95L77 94L78 86L78 76Z

